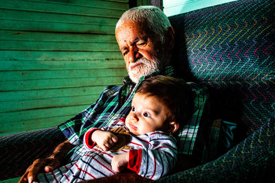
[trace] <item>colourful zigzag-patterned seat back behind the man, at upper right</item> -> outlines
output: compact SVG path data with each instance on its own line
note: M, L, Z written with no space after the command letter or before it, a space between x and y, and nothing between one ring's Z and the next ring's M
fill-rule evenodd
M210 90L234 88L249 134L275 111L274 4L234 1L170 17L179 73Z

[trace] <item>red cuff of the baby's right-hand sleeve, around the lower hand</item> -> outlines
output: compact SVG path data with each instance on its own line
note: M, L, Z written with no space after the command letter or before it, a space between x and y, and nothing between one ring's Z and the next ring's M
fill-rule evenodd
M129 151L129 162L127 164L127 168L131 171L135 171L135 173L140 172L140 164L142 163L142 149Z

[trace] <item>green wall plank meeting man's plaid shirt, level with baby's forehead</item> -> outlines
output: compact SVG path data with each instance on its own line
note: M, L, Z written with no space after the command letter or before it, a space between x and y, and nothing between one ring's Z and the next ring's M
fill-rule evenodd
M60 108L68 106L84 106L94 103L100 93L97 95L78 95L72 97L54 97L44 99L23 99L21 101L2 101L0 113L19 112L24 110L36 110L43 108ZM1 122L0 122L1 123Z

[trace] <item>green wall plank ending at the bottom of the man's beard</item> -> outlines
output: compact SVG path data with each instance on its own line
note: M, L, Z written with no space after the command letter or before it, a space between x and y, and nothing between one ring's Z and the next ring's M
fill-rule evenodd
M0 91L12 90L38 90L48 88L71 88L80 86L107 86L122 84L123 77L83 77L83 78L61 78L46 80L22 80L0 82Z

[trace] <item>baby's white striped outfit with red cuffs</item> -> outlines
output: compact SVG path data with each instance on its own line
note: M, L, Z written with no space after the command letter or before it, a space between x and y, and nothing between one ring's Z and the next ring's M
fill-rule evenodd
M100 130L110 131L115 127L125 127L124 118L115 121L109 127ZM94 128L89 129L85 136ZM177 142L173 136L161 131L149 132L135 136L130 133L131 149L121 151L102 151L96 145L89 147L87 141L79 149L81 157L75 157L72 163L66 164L50 173L40 173L39 182L80 182L92 180L109 175L115 175L111 168L111 160L116 154L129 151L129 162L127 168L135 171L145 178L157 180L168 174L175 166L177 160Z

